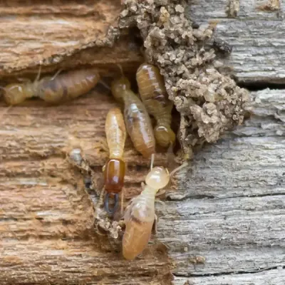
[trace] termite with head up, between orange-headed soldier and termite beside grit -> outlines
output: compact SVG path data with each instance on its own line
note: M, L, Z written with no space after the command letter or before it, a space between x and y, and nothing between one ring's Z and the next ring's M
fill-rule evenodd
M135 149L143 157L150 157L155 153L155 135L145 105L130 89L130 81L125 77L113 81L112 93L123 102L125 126Z

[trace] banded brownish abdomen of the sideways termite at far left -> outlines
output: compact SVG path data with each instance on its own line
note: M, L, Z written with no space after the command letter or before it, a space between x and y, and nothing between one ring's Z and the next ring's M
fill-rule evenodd
M95 68L68 71L55 78L43 78L38 85L38 97L49 103L74 99L90 91L99 79Z

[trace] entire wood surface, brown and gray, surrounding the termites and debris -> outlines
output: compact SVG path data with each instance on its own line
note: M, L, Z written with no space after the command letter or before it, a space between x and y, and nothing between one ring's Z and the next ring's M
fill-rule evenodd
M230 39L234 50L225 62L238 81L282 83L284 43L279 34L269 41L269 35L275 35L272 27L282 33L281 12L278 7L257 11L257 2L221 0L213 7L212 1L197 1L190 12L197 22L222 19L217 36ZM0 28L4 81L14 80L12 76L34 78L39 63L43 73L91 64L103 76L112 76L118 74L116 63L132 73L142 61L132 38L121 38L114 48L108 47L112 37L104 40L120 11L119 2L7 3L0 4L1 15L6 15ZM229 19L235 11L239 18ZM19 22L12 21L15 15ZM49 33L51 15L48 23L54 26ZM15 31L17 41L9 38L5 25ZM19 45L9 46L14 42ZM280 47L279 61L276 47L269 43ZM7 108L1 101L0 283L170 284L173 273L174 284L283 285L284 90L265 89L253 92L252 98L252 118L197 152L177 175L177 190L167 192L165 207L157 203L157 236L131 262L122 259L120 242L114 246L98 236L92 202L98 202L100 188L89 196L83 175L66 160L70 150L81 147L101 176L108 155L105 115L115 106L108 91L98 86L78 100L53 107L28 100ZM125 157L125 197L130 199L139 194L149 161L135 152L130 140ZM157 155L155 163L165 165L166 159Z

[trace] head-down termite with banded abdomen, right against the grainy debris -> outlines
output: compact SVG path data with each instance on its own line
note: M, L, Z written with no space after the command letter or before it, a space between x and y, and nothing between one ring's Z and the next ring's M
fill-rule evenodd
M142 63L138 68L136 78L142 103L157 122L154 130L157 144L162 147L174 145L175 133L170 127L173 103L168 99L160 71L156 66Z

